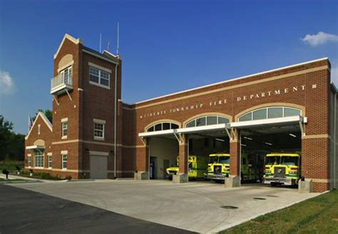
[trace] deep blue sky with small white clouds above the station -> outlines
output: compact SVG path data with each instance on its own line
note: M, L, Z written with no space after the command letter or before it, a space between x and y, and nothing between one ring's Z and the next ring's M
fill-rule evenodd
M323 0L0 0L0 114L26 134L64 34L115 52L118 21L126 103L326 56L338 84L337 17Z

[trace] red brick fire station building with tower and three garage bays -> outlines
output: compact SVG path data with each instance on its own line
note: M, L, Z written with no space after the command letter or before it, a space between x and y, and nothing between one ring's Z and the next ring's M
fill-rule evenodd
M329 59L134 104L121 100L121 71L120 56L63 37L54 54L52 123L36 116L25 141L26 170L163 179L177 160L184 177L188 156L227 152L230 175L240 175L244 152L264 158L298 151L314 191L337 188L337 88Z

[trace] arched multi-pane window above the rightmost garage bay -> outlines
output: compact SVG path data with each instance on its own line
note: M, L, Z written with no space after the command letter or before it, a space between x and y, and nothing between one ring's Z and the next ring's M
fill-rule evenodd
M238 118L238 121L257 121L267 118L282 118L288 116L300 116L302 111L296 108L284 107L284 106L272 106L266 108L260 108L255 111L250 111Z

